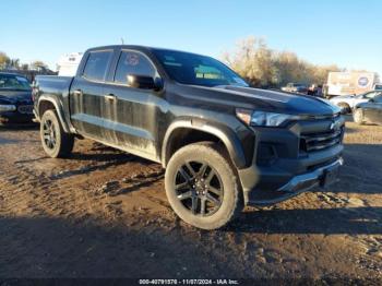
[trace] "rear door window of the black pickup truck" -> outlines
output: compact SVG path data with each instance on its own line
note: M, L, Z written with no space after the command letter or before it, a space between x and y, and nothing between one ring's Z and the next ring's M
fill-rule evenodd
M104 81L112 57L112 51L92 51L87 58L83 75L86 79Z

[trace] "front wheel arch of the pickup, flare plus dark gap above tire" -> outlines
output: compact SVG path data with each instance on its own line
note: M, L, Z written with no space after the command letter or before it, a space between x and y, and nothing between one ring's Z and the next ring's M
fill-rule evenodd
M200 120L179 120L170 124L162 146L162 165L166 168L174 153L180 147L202 142L222 142L237 168L246 167L246 156L240 140L225 126L216 126Z

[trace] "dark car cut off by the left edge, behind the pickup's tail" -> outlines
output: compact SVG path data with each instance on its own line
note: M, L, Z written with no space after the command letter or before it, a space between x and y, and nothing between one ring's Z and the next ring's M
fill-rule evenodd
M21 74L0 72L0 123L28 123L33 118L29 81Z

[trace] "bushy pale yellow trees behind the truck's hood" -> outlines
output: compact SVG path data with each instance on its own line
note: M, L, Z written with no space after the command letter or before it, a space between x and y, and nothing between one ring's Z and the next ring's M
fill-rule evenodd
M250 36L238 43L223 60L251 85L280 87L289 82L324 84L330 71L345 71L336 64L319 65L300 59L291 51L277 51L267 47L263 38Z

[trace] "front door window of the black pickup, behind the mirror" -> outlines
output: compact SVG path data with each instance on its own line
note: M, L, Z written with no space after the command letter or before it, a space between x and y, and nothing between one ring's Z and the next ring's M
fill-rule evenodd
M122 51L118 61L115 82L127 83L129 74L154 78L155 68L141 52Z

